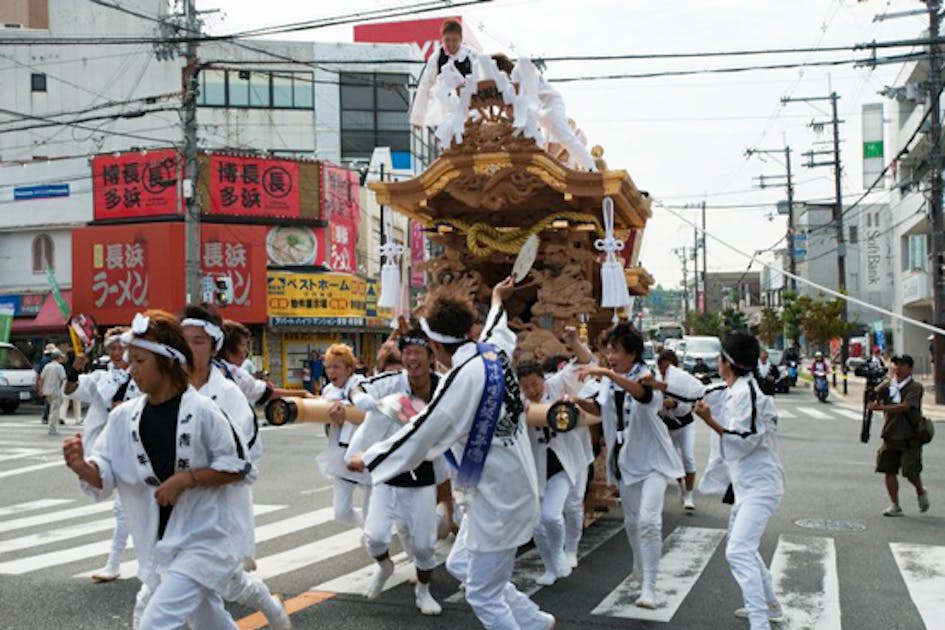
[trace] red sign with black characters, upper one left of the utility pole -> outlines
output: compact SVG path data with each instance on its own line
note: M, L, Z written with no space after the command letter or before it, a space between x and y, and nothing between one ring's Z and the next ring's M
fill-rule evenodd
M174 149L92 158L95 220L178 214L178 171Z

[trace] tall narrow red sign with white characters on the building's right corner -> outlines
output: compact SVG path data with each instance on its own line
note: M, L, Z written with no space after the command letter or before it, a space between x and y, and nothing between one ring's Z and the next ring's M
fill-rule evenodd
M354 273L360 215L358 174L327 162L321 167L322 218L328 222L328 267Z

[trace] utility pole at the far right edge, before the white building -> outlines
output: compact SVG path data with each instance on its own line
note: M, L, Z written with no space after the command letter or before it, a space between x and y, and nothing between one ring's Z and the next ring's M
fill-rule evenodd
M942 118L939 99L942 92L942 59L939 49L941 26L940 0L926 0L929 11L929 107L932 108L929 129L929 183L932 195L932 296L933 321L945 326L945 220L942 217ZM935 335L932 345L935 378L935 403L945 404L945 338Z

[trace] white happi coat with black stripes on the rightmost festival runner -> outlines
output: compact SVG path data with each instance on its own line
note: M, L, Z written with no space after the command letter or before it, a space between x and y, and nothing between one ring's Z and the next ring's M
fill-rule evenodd
M726 391L722 415L716 420L725 427L719 453L732 480L735 504L751 496L780 498L784 469L778 455L778 412L771 396L761 393L751 375L739 377Z

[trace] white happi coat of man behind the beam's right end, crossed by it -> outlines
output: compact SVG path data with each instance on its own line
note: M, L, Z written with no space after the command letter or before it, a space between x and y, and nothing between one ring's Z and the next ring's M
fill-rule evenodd
M545 391L541 402L551 403L561 400L566 394L576 395L581 391L581 381L577 377L578 366L573 361L554 374L545 378ZM528 427L528 435L535 459L535 471L538 475L538 490L544 495L545 479L548 476L548 450L554 451L568 481L578 482L581 474L594 461L594 448L591 434L587 427L575 427L565 433L555 432L545 441L543 427ZM539 441L540 440L540 441Z

